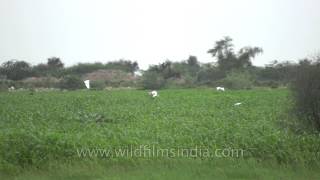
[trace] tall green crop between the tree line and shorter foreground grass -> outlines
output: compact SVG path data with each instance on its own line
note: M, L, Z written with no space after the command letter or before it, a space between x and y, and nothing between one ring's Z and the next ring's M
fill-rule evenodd
M0 93L0 169L19 172L52 162L134 163L165 157L80 158L77 148L156 145L245 150L241 159L318 166L320 137L294 134L287 90L212 89ZM240 106L234 103L242 102ZM174 159L174 158L173 158ZM194 158L214 161L213 158ZM51 166L50 166L51 167Z

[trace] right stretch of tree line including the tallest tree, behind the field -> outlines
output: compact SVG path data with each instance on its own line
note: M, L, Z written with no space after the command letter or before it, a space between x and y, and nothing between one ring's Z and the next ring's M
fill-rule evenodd
M201 63L197 57L173 62L167 60L150 66L142 77L142 87L160 89L166 87L225 86L230 89L250 89L254 86L277 88L288 86L294 79L299 63L274 60L264 67L254 66L252 60L263 53L260 47L242 47L235 50L230 37L216 41L207 51L214 61Z

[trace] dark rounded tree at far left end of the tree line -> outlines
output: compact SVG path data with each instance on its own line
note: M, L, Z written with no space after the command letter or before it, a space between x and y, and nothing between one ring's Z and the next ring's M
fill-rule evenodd
M32 76L32 69L25 61L11 60L2 64L1 74L11 80L21 80Z

